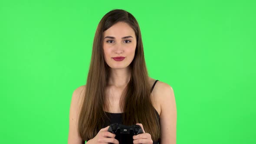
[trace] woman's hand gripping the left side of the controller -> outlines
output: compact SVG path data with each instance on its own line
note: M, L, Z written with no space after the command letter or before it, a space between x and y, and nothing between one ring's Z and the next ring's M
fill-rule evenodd
M108 144L108 143L113 143L113 144L119 144L119 141L115 139L115 134L112 134L111 132L108 131L108 127L102 128L98 134L93 137L92 139L92 144Z

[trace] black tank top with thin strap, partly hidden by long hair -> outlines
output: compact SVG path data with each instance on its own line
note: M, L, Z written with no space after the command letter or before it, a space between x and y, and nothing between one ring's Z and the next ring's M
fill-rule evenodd
M156 81L154 82L154 85L155 85L157 82L158 82L158 80L156 80ZM152 88L151 88L151 92L153 91L154 85L153 85ZM156 109L154 109L154 110L155 110L155 112L156 112L156 115L158 116L157 121L160 123L160 116L159 116L159 114L158 114L158 111L157 111ZM106 112L106 111L105 111L105 112ZM109 112L106 112L106 113L109 113ZM106 122L105 125L103 126L103 128L109 126L109 125L112 124L112 123L122 124L122 114L123 114L123 113L109 113L109 114L111 115L111 121ZM99 130L97 130L97 133L98 133L98 131L99 131ZM89 140L88 140L88 141L89 141ZM158 141L153 141L153 144L159 144L160 141L161 141L161 139L159 139ZM85 141L83 141L82 144L84 144L84 143L85 143Z

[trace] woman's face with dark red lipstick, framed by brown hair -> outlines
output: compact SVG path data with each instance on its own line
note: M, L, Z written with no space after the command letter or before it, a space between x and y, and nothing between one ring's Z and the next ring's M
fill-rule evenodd
M105 62L112 69L127 68L134 59L136 36L127 23L118 22L105 30L103 43ZM115 57L124 57L124 59L120 61Z

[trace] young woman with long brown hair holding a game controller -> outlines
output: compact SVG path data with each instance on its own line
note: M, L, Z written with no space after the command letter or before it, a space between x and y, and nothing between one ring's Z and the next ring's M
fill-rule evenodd
M148 76L137 20L108 12L96 29L86 85L72 95L68 144L118 144L111 123L140 125L134 144L176 144L176 119L172 87Z

